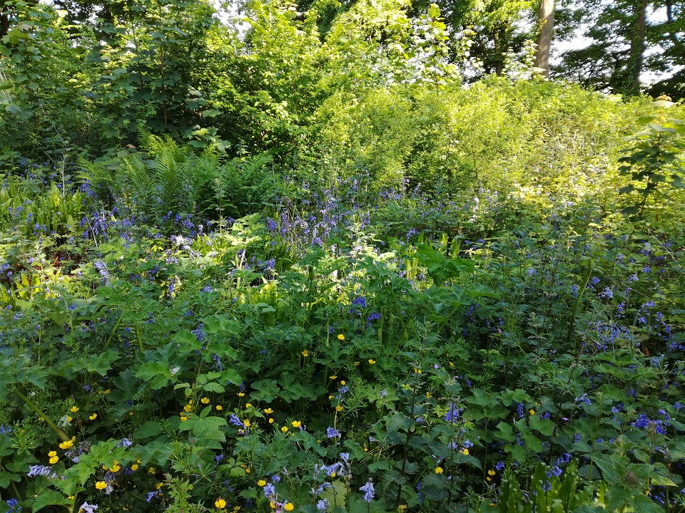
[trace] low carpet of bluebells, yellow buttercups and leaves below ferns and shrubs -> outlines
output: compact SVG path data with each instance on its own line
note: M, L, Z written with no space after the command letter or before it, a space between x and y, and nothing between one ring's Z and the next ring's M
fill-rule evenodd
M579 507L682 501L682 219L366 179L6 243L9 510L487 512L569 473Z

